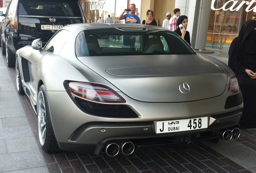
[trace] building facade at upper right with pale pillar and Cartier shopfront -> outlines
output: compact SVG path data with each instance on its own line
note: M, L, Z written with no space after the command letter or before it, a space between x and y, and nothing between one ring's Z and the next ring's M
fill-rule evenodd
M173 9L180 8L181 15L188 16L191 46L198 50L228 50L244 22L256 15L256 0L142 0L142 7L149 3L156 18L168 11L173 16Z

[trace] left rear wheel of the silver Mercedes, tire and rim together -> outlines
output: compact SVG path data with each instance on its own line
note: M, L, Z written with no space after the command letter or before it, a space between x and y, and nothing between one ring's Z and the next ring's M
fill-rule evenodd
M37 126L42 149L46 152L60 151L52 128L48 98L44 85L41 85L37 95Z

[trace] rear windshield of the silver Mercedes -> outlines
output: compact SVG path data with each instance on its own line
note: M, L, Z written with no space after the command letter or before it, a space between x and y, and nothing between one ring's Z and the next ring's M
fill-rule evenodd
M138 32L136 29L141 29ZM145 30L145 31L143 31ZM123 28L86 30L78 34L76 56L124 56L143 54L196 54L175 32Z

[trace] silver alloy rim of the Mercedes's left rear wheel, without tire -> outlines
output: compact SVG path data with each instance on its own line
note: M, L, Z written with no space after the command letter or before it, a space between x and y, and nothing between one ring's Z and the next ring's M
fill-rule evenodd
M41 146L45 143L46 133L46 113L45 113L45 102L42 91L38 93L39 103L37 104L37 124L38 124L38 135Z

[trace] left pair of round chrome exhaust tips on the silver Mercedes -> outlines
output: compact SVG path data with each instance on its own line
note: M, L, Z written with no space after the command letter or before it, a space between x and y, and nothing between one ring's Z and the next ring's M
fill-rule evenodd
M120 150L124 155L130 155L134 152L135 146L129 140L120 140L120 141L109 141L106 143L104 150L108 156L114 157L118 155Z

